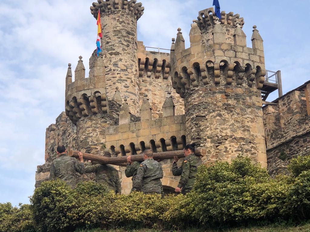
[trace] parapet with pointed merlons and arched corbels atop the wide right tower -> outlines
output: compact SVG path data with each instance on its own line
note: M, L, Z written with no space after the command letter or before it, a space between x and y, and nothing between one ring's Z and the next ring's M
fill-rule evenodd
M221 24L217 18L215 24L208 28L201 28L197 23L193 23L189 33L191 46L188 49L185 49L181 28L178 29L170 60L173 61L173 88L182 98L191 86L247 85L257 89L263 87L263 40L254 26L253 48L246 47L242 22L236 21L233 26L233 23ZM230 30L226 30L226 27Z

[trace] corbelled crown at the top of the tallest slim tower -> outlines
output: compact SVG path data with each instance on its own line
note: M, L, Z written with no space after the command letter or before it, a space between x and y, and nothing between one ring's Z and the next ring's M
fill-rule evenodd
M99 9L101 13L110 10L126 10L128 12L132 12L137 20L144 13L144 7L142 6L142 3L136 3L136 0L98 0L97 2L93 2L92 6L90 7L91 14L94 15L95 19L97 19Z

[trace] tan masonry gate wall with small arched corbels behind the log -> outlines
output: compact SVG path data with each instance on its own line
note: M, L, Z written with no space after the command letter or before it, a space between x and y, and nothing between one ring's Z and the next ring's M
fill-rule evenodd
M106 128L106 146L118 156L139 154L144 149L153 152L182 150L186 144L184 131L185 115L176 115L155 120L143 120ZM182 161L179 161L181 165ZM166 191L175 188L179 177L171 172L172 160L162 162ZM132 187L131 178L126 178L121 167L122 193L128 194Z

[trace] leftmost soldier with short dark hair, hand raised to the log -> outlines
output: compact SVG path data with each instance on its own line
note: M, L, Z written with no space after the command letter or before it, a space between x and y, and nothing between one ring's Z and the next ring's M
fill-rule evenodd
M83 154L78 153L80 162L74 158L67 156L65 146L57 147L57 158L52 162L50 171L50 180L59 178L66 182L71 188L76 187L76 174L84 173Z

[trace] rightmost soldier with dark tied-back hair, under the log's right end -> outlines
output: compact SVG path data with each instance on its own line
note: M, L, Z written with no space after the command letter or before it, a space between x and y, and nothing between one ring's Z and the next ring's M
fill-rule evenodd
M194 155L195 144L186 145L184 148L185 158L181 167L178 168L177 162L178 157L174 157L172 165L172 174L174 176L181 176L178 187L175 188L175 192L181 192L186 194L190 192L195 183L195 175L197 173L197 168L201 165L201 159ZM182 189L182 191L181 191Z

